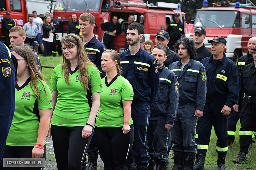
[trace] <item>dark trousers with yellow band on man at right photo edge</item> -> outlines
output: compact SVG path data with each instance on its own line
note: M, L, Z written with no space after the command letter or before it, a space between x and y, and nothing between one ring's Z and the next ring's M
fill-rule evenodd
M256 131L256 103L241 102L240 123L241 129L239 131L240 152L248 153L252 136Z

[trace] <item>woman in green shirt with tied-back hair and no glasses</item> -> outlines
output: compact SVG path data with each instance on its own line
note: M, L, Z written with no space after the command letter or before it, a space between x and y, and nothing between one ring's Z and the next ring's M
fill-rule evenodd
M95 138L104 169L126 170L126 157L134 139L131 104L133 88L123 78L120 55L115 50L102 53L101 67L106 77L101 79L103 92L95 124Z

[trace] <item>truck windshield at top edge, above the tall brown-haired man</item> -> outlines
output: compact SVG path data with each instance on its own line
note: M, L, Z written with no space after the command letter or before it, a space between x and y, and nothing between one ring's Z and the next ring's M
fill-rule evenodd
M57 0L55 10L98 12L101 0Z

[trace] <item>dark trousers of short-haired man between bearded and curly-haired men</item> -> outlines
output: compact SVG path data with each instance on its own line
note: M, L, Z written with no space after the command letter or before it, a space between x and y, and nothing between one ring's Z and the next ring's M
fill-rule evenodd
M150 159L158 162L168 160L169 129L165 129L165 120L150 120L148 127L148 153Z

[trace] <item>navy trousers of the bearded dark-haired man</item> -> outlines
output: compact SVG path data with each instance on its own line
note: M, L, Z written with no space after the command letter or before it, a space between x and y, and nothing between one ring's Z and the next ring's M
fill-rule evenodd
M134 141L133 149L130 151L126 163L132 164L134 156L136 164L145 166L148 165L148 161L150 160L147 141L150 107L149 105L131 107L131 111L134 126Z

